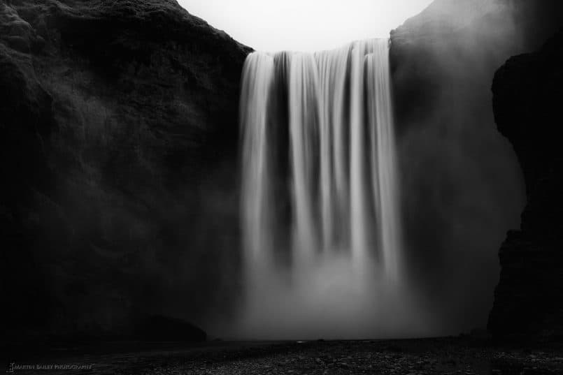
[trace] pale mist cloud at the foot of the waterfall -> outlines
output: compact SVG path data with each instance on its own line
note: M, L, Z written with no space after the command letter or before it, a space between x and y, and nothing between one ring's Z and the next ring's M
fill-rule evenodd
M230 337L384 339L429 337L439 322L406 283L329 256L297 270L250 273Z

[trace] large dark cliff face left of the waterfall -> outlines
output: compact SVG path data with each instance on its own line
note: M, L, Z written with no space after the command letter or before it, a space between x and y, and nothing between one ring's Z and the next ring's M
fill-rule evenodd
M173 0L0 1L8 332L228 313L248 52Z

